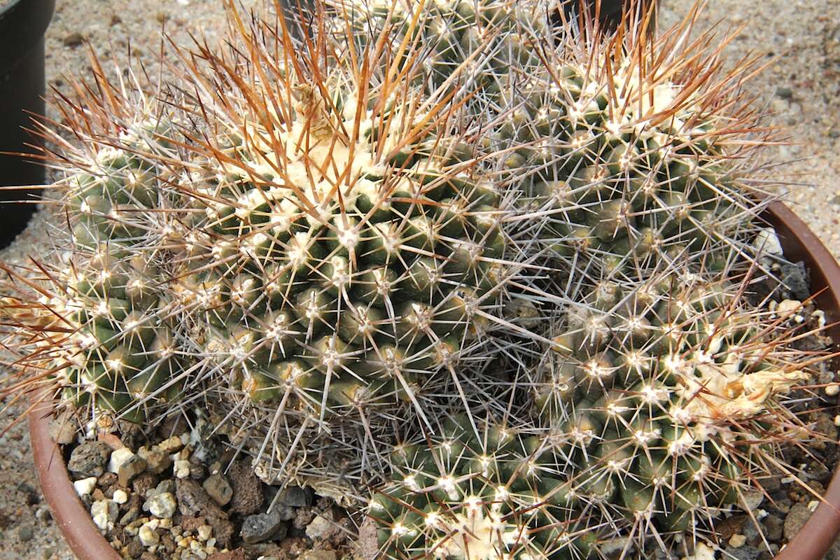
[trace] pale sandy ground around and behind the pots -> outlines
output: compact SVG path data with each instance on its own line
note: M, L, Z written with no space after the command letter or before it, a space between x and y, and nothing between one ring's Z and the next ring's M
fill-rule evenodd
M663 24L675 22L690 8L687 0L662 2ZM150 71L157 71L154 53L162 30L186 43L190 33L203 29L212 44L218 40L213 30L223 20L219 0L59 0L47 33L48 81L61 88L66 86L62 75L90 71L87 41L106 59L124 60L130 49ZM722 29L743 25L728 50L730 60L753 52L768 61L767 70L746 90L767 103L776 113L774 122L789 131L790 144L769 154L790 161L778 180L791 184L791 204L840 256L840 0L710 0L698 25L712 24ZM113 73L113 66L108 71ZM37 254L43 229L43 220L36 220L0 257ZM21 411L9 406L0 414L0 426L8 426ZM0 560L71 559L39 494L25 425L0 437L0 449Z

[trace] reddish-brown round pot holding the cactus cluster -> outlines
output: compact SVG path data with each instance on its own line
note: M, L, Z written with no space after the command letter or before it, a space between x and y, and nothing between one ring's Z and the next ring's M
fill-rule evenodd
M817 294L816 306L825 311L828 334L840 346L840 265L820 240L784 204L776 202L764 213L778 233L785 257L803 261L811 272L811 293ZM91 516L76 497L59 447L50 439L52 407L44 402L29 413L29 437L32 440L35 468L41 489L66 541L80 560L119 560L102 537ZM840 531L840 469L834 473L825 501L798 535L779 553L776 560L820 560L832 547Z

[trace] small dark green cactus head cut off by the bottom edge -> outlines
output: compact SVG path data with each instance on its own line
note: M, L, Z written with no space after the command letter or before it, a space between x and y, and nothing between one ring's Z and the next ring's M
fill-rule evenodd
M431 443L395 447L395 474L368 505L386 557L585 557L591 543L566 530L572 483L553 455L499 425L478 433L458 416Z

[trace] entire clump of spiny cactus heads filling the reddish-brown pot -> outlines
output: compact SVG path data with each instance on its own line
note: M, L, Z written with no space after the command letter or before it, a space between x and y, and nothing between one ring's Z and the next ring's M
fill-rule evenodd
M55 259L8 269L22 385L98 427L200 406L345 502L390 479L387 557L706 539L795 474L785 395L819 359L751 296L751 66L690 20L558 8L331 0L306 40L232 13L162 98L97 72L62 106Z

